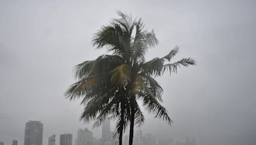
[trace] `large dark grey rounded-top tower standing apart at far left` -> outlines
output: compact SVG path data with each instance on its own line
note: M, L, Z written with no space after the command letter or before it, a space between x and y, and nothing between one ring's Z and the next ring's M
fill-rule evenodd
M43 123L28 121L25 127L24 145L42 145Z

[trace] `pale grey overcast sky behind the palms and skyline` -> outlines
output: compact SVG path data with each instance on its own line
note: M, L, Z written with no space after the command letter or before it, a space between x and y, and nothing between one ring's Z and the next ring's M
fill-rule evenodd
M198 62L157 78L174 123L146 115L143 132L175 141L196 137L198 145L255 144L255 8L256 1L246 0L0 0L0 142L23 144L28 120L44 123L44 145L52 134L92 129L79 121L79 101L63 93L76 64L105 53L92 47L93 32L121 10L156 32L159 45L147 60L178 45L174 60ZM100 137L100 128L93 132Z

